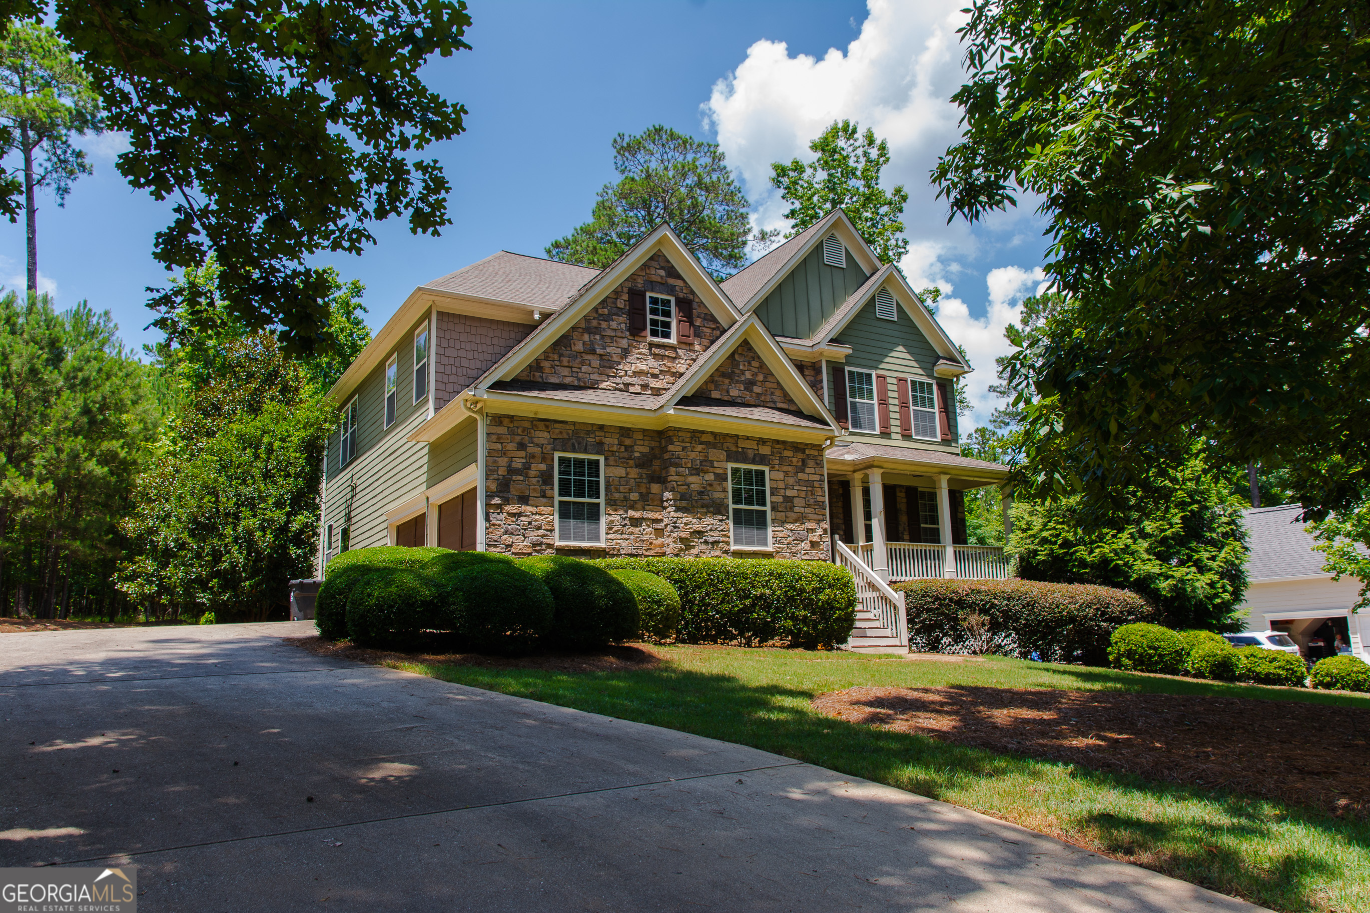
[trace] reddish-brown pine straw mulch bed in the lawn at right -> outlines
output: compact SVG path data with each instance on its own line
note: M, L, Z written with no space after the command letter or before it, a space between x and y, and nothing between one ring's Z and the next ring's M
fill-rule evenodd
M1370 709L1259 698L855 687L827 716L940 742L1370 814Z

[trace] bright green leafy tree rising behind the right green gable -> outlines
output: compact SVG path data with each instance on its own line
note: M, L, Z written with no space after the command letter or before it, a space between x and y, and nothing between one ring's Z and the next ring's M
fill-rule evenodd
M793 226L786 238L810 227L833 209L841 208L871 246L881 263L897 264L908 253L908 238L900 216L908 203L903 185L893 190L880 186L880 172L889 164L889 144L875 140L875 131L860 133L852 120L834 120L808 144L818 157L808 164L799 159L771 164L771 183L790 203L785 214Z

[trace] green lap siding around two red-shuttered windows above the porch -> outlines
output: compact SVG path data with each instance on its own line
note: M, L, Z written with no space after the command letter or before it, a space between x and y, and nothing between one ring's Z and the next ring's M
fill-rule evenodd
M856 433L845 435L852 441L878 441L880 443L908 443L919 448L932 449L945 449L947 442L943 441L926 441L921 438L906 438L899 427L899 378L917 378L919 381L933 381L937 382L937 375L933 374L933 367L937 364L937 350L923 335L922 330L914 323L914 319L908 316L908 312L903 308L896 311L899 315L897 320L881 320L875 316L875 300L874 296L866 305L856 312L856 316L851 319L841 333L837 334L837 339L845 342L852 348L852 353L847 356L845 367L858 368L860 371L874 371L875 374L884 374L889 378L889 434L864 434ZM837 363L829 363L829 371L832 365ZM948 391L952 394L952 402L948 404L949 417L951 417L951 443L959 441L959 433L956 428L956 385L954 381L943 381L948 386ZM827 405L833 407L832 402L832 383L829 383ZM910 431L912 433L912 431ZM955 448L952 448L955 449Z

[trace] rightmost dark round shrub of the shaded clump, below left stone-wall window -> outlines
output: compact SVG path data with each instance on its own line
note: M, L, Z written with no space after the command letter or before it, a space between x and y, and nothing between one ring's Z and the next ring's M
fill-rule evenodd
M637 600L604 568L559 554L522 558L518 565L552 591L548 646L584 650L637 636Z

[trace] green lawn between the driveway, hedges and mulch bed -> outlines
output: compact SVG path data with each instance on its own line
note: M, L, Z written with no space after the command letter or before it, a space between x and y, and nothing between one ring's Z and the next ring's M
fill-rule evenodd
M614 672L401 668L751 745L1017 821L1277 910L1370 910L1370 821L945 745L841 723L808 704L815 694L859 684L1212 694L1362 708L1370 708L1370 698L997 657L910 663L800 650L674 646L659 652L667 657L659 667Z

